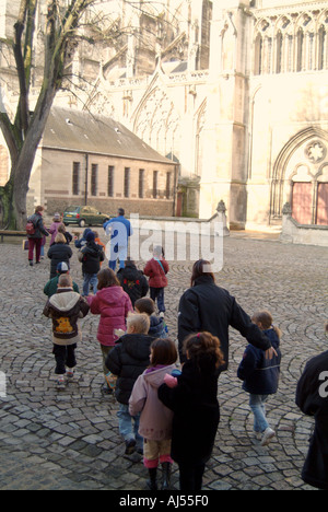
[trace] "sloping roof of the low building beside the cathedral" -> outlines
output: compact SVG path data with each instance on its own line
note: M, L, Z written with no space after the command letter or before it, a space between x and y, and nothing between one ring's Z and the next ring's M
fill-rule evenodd
M59 107L50 112L42 147L174 164L112 118Z

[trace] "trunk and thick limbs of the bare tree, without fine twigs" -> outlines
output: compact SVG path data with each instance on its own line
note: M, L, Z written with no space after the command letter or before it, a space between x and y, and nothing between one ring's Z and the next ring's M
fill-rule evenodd
M54 98L62 84L68 45L77 35L86 9L93 3L94 0L70 0L62 9L57 0L48 0L44 74L36 106L31 113L32 48L37 0L21 0L14 37L10 42L19 80L16 113L10 119L3 105L0 113L0 128L11 156L10 178L4 187L0 187L2 223L5 226L22 229L25 223L31 171Z

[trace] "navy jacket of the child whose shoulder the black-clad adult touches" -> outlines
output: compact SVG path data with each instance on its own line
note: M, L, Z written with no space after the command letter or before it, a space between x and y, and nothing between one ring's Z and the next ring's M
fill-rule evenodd
M244 381L243 388L254 395L274 395L278 391L281 363L280 340L272 328L265 330L265 335L270 339L278 356L266 359L266 352L248 345L237 372L238 377Z

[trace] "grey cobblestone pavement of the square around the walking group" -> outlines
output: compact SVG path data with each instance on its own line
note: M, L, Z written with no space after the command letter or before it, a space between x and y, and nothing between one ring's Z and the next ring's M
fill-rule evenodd
M234 235L224 240L218 283L248 313L258 307L273 313L283 330L282 377L279 393L268 404L277 439L261 447L253 437L248 397L236 379L245 340L231 330L230 370L219 382L222 419L204 490L309 489L300 473L313 420L300 412L294 396L305 362L327 348L327 257L323 247ZM190 268L190 261L171 264L166 304L173 336ZM144 490L147 473L140 456L122 455L117 403L101 394L97 317L83 321L74 381L66 391L55 388L50 324L42 316L48 275L46 259L31 268L21 245L0 245L0 371L7 376L7 397L0 398L0 488ZM75 254L72 276L81 286ZM173 484L178 489L176 465Z

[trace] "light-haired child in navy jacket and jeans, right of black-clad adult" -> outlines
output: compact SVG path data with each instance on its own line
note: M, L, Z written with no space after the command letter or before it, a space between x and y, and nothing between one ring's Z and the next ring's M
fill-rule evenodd
M254 430L261 434L261 445L266 446L274 438L276 432L266 417L266 402L269 395L278 391L281 364L280 337L281 331L272 325L272 315L268 311L256 313L251 321L270 339L277 356L266 359L266 352L248 345L237 375L244 381L243 388L249 393L249 406L254 414Z

